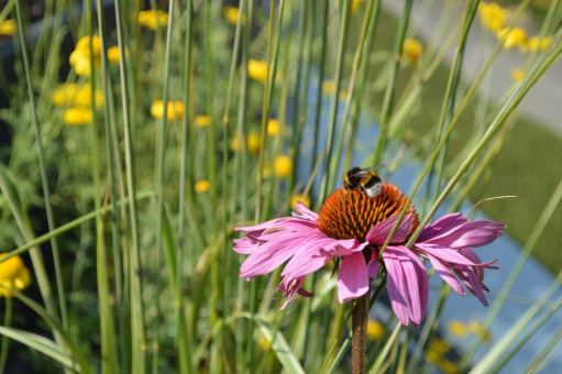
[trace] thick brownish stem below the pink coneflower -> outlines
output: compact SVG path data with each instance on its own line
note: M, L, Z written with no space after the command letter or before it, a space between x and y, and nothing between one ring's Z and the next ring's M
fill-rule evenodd
M353 330L352 344L352 370L353 374L365 373L367 353L367 319L368 319L368 296L370 293L360 297L351 317Z

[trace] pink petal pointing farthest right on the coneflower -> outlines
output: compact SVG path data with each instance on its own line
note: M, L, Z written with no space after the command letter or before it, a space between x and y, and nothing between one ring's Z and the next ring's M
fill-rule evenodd
M483 246L502 237L505 228L505 224L495 221L469 221L449 231L441 231L432 238L426 237L423 242L450 249Z

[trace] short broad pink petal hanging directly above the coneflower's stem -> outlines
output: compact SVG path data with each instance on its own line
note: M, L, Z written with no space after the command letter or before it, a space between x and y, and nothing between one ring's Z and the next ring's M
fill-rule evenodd
M368 273L363 253L343 257L338 271L338 299L348 302L368 292Z

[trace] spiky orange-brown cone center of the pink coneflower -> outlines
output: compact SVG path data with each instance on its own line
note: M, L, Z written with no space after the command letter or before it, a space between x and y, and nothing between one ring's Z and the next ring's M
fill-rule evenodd
M406 205L407 197L398 187L383 184L383 190L370 198L365 194L345 189L335 190L318 213L318 228L333 239L356 239L364 242L367 232L377 223L396 216ZM410 234L419 224L416 209L410 204L407 212L414 215Z

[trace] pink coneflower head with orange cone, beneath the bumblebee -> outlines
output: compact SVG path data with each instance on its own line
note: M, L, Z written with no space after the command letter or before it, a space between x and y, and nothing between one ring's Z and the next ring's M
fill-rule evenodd
M282 272L278 290L287 300L301 289L307 275L330 260L338 267L338 298L346 302L370 290L370 278L387 276L392 307L404 326L419 324L427 309L428 276L418 256L428 258L436 272L460 295L465 287L486 305L483 290L484 268L470 249L491 243L502 234L504 224L494 221L466 221L460 213L449 215L427 226L411 248L406 241L419 226L411 205L392 235L386 250L382 246L398 220L407 198L395 186L384 183L381 194L367 197L359 190L335 190L315 213L297 204L293 217L274 219L257 226L238 228L246 233L235 240L234 251L250 254L240 270L249 280L273 272L288 261Z

